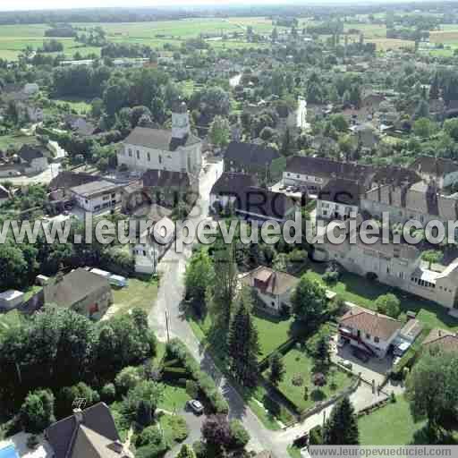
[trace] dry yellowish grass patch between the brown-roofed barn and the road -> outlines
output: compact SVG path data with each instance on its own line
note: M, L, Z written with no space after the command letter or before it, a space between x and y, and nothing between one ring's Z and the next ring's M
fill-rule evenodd
M151 310L157 298L157 280L140 280L129 278L128 286L113 289L113 305L116 315L128 313L140 308L147 313Z

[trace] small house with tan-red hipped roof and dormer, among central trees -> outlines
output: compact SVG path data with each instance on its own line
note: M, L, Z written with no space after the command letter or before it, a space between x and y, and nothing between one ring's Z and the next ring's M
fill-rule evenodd
M296 276L259 266L244 274L241 280L256 292L262 307L269 313L279 315L291 310L291 294L299 283Z

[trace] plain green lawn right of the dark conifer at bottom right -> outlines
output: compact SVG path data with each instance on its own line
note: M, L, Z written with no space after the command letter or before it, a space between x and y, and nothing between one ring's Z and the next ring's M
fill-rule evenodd
M416 443L415 433L425 422L415 423L409 403L403 396L396 403L369 413L358 420L361 445L409 445Z

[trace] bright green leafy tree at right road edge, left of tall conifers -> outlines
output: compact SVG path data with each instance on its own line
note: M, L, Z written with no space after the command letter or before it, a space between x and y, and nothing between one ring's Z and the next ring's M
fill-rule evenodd
M215 270L207 250L198 250L191 256L186 267L186 297L193 301L204 301L205 293L215 278Z

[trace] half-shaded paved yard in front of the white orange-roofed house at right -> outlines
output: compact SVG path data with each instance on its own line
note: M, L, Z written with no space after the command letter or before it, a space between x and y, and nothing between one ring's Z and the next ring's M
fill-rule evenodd
M370 358L367 362L359 360L352 353L352 345L345 344L343 347L337 347L337 336L333 339L331 345L331 360L344 364L352 363L352 372L359 375L367 382L372 383L375 380L376 385L380 385L385 380L387 372L393 367L393 358L386 356L383 360Z

